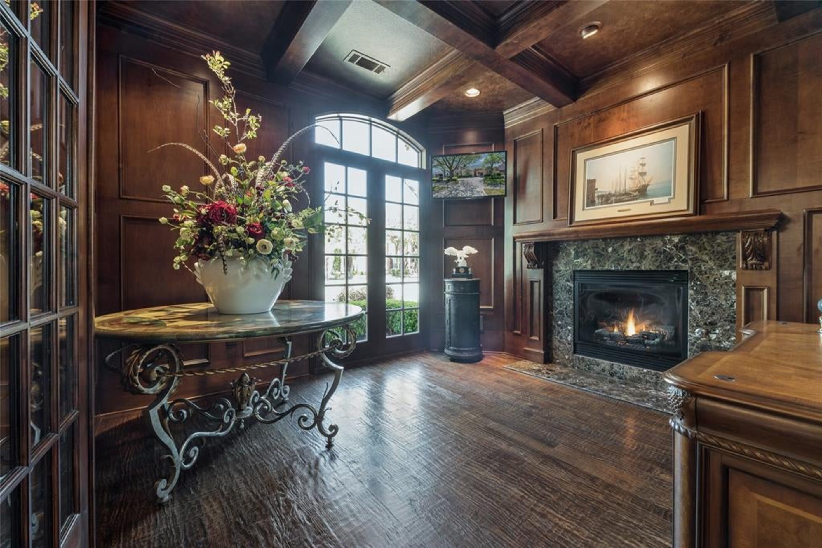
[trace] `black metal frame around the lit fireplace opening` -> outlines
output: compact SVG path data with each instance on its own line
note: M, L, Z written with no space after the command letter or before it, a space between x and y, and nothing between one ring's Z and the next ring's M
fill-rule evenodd
M574 353L578 356L593 357L604 361L617 361L630 366L640 366L653 371L667 371L688 356L688 283L687 270L574 270ZM605 347L579 339L580 331L580 285L582 283L609 283L614 287L635 288L641 283L667 283L682 288L682 325L685 328L680 338L681 358L663 356L653 352Z

